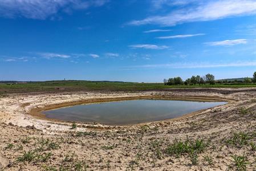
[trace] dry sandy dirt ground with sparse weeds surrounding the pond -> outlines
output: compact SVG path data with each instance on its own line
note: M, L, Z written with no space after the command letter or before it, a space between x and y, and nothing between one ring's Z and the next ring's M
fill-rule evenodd
M38 116L74 101L146 96L229 103L124 127ZM256 88L12 94L0 97L0 133L0 170L256 170Z

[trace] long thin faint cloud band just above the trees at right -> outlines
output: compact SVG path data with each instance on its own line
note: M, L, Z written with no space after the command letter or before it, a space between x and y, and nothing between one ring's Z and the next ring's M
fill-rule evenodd
M230 63L169 63L169 64L147 64L140 66L128 66L126 68L150 69L150 68L220 68L220 67L249 67L256 66L255 61L237 61Z

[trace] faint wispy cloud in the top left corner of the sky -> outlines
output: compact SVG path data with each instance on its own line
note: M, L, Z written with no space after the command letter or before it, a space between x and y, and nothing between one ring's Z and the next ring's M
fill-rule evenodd
M98 7L107 2L108 0L6 0L0 3L0 16L46 19L60 11L72 13L73 10Z

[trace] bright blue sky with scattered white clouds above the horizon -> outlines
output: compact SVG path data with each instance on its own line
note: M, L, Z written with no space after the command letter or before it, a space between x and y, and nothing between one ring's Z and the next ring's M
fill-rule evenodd
M0 0L0 80L162 82L255 71L254 0Z

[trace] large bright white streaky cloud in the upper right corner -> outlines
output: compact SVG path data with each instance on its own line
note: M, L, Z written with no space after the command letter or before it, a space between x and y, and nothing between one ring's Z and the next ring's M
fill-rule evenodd
M213 21L226 17L255 13L256 5L253 0L201 1L197 3L196 7L177 9L166 15L155 15L142 20L131 21L128 24L175 26L187 22Z

